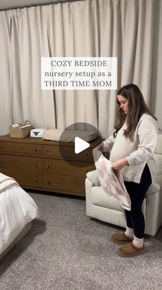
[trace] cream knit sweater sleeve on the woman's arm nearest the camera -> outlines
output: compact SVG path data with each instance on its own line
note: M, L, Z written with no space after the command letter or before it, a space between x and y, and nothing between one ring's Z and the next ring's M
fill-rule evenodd
M145 114L144 117L141 117L137 126L139 146L136 151L126 157L128 165L130 166L147 162L153 155L157 145L158 126L152 116Z

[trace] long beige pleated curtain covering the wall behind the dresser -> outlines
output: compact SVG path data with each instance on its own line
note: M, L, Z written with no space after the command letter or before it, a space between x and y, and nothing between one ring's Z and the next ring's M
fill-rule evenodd
M0 134L86 122L108 137L115 90L41 90L42 57L117 57L118 88L137 84L149 104L155 0L86 0L0 12Z

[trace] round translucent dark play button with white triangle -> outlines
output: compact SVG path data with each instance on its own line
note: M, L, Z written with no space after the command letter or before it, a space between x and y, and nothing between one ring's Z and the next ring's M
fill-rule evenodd
M102 140L97 128L88 123L78 122L65 128L59 138L59 153L60 157L70 165L69 172L72 170L71 166L76 167L74 172L80 177L82 172L92 171L95 168L93 148ZM58 153L54 152L54 154ZM83 168L83 171L78 168Z

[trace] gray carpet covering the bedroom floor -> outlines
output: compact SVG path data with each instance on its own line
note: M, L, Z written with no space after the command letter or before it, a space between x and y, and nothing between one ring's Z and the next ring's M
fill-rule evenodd
M121 229L87 217L83 198L30 195L40 218L0 261L0 289L162 289L162 229L145 255L120 258L109 237Z

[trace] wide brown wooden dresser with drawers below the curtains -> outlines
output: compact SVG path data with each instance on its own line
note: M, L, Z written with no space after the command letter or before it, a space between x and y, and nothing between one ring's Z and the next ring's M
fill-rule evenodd
M89 148L75 154L74 143L4 135L0 137L0 172L25 189L84 196L86 173L95 169L92 149L100 142L95 139ZM63 146L64 158L58 144Z

